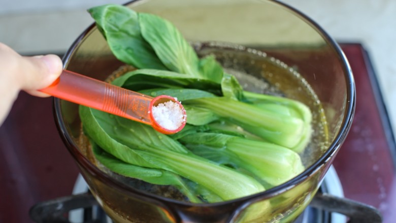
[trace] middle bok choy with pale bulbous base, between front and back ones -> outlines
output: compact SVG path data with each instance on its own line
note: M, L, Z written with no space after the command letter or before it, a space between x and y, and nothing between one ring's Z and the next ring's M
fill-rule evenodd
M270 185L304 170L299 154L285 147L221 133L193 133L179 139L195 154L223 165L246 169Z

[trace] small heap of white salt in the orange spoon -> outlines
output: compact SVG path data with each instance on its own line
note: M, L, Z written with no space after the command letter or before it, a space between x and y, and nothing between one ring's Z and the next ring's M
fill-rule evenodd
M178 129L186 119L180 105L172 101L153 106L152 113L155 121L167 130Z

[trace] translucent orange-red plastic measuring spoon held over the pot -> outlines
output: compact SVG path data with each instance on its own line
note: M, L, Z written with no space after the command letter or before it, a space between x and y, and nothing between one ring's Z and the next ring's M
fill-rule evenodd
M173 97L159 95L153 98L67 70L63 70L57 80L40 91L59 99L152 125L163 134L177 133L186 124L186 111ZM163 128L153 116L153 106L168 101L177 103L183 113L182 124L176 130Z

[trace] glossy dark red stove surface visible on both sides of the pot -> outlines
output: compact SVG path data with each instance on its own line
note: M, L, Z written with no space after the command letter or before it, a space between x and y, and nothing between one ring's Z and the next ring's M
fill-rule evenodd
M356 113L334 166L346 198L396 219L395 146L371 67L360 44L341 44L357 91ZM52 100L21 92L0 128L0 222L31 222L29 208L72 193L78 169L58 135Z

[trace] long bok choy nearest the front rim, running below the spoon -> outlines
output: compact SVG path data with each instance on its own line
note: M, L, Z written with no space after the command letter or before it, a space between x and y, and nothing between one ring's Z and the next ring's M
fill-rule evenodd
M83 106L80 107L80 116L88 136L125 163L179 174L223 200L264 190L253 178L192 154L176 140L156 132L148 125ZM113 170L118 171L115 168Z

